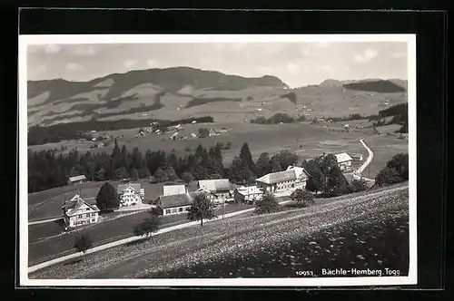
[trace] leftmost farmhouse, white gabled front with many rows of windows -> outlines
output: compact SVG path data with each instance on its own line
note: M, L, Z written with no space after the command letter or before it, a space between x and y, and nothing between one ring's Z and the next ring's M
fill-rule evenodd
M73 228L98 221L99 209L96 205L88 204L79 194L76 194L73 199L66 201L62 210L66 227Z

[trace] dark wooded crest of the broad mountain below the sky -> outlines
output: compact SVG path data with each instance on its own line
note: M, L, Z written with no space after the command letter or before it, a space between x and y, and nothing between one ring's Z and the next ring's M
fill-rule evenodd
M102 84L106 82L109 83ZM113 73L88 82L70 82L63 79L28 81L27 94L28 98L31 99L43 92L50 92L46 102L53 102L71 97L74 94L93 91L94 88L109 88L109 91L100 98L100 100L109 101L120 97L123 92L143 83L153 83L161 87L162 91L173 93L187 86L191 86L193 90L219 89L233 91L260 86L288 87L279 78L271 75L264 75L260 78L247 78L191 67L173 67Z

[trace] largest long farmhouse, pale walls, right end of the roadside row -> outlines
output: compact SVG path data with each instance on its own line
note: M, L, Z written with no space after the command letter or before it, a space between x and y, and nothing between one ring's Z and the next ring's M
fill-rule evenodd
M289 166L287 170L271 172L256 179L263 191L280 192L289 189L306 189L309 173L301 167Z

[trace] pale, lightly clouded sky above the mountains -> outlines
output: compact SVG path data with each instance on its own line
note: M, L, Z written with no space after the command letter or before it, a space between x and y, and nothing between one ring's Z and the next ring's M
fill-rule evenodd
M407 44L35 44L27 48L27 77L32 81L89 81L110 73L175 66L244 77L274 75L291 88L327 79L407 80Z

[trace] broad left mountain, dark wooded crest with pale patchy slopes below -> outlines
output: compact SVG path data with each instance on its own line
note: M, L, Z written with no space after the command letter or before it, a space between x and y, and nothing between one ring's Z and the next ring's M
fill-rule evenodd
M89 82L29 81L28 124L88 121L93 116L98 119L139 113L145 116L145 112L159 109L189 117L174 111L194 106L192 101L197 103L199 98L207 98L199 101L200 104L211 102L211 98L229 102L231 98L248 96L247 91L251 89L284 88L287 88L285 83L270 75L246 78L189 67L114 73ZM194 115L191 110L188 112ZM167 119L178 119L177 116Z

